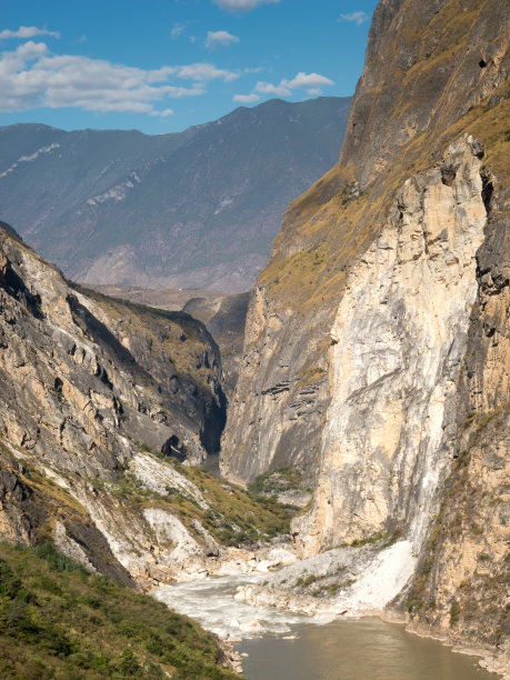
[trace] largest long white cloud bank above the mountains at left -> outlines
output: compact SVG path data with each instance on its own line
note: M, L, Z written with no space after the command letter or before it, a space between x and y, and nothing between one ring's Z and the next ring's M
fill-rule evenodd
M211 63L146 70L101 59L59 56L51 53L47 44L30 40L0 56L0 110L79 107L88 111L171 116L171 109L160 110L157 103L196 97L211 80L229 82L238 77ZM176 84L176 79L191 83L182 87Z

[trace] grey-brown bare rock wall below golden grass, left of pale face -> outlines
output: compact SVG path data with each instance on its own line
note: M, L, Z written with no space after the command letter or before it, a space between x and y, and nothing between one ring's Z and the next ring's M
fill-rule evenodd
M296 332L292 309L274 308L257 287L249 320L240 380L223 438L222 473L250 481L266 470L291 463L312 476L309 466L318 454L321 411L328 397L326 363L320 359L328 311L319 310ZM317 354L321 366L303 370L304 358Z

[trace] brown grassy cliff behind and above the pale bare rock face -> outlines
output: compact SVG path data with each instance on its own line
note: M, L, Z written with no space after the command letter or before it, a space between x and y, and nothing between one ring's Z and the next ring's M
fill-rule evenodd
M224 437L229 474L251 478L276 458L317 459L346 272L406 180L441 163L466 132L484 143L483 164L504 174L507 13L498 0L379 4L340 162L290 206L252 293Z

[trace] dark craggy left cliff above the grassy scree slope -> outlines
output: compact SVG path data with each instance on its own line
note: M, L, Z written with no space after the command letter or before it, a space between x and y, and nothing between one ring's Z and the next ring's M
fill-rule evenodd
M224 404L218 349L199 322L87 297L4 231L0 304L1 436L84 477L114 474L133 441L203 459L208 416Z

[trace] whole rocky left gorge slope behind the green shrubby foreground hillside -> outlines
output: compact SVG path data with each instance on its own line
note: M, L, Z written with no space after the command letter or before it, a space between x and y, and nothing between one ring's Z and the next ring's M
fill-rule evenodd
M224 421L199 321L71 287L2 229L0 311L0 539L148 586L289 531L284 509L178 462L214 452Z

